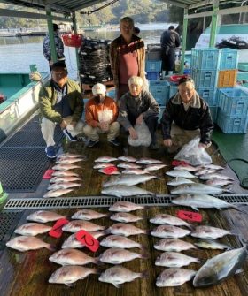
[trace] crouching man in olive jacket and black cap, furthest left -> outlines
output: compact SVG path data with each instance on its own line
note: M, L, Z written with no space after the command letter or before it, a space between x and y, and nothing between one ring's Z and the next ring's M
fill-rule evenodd
M63 133L71 141L76 141L82 133L84 123L81 120L83 98L79 85L67 77L64 61L51 65L51 79L41 88L39 105L42 115L42 133L46 142L46 155L56 157L53 139L55 126L60 125Z

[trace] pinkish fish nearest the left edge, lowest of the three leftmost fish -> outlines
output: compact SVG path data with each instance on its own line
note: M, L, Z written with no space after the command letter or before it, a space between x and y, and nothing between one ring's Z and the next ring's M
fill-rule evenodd
M43 240L27 236L20 236L11 239L6 243L6 246L18 250L20 252L37 250L43 247L49 249L50 251L55 250L54 246L45 243Z

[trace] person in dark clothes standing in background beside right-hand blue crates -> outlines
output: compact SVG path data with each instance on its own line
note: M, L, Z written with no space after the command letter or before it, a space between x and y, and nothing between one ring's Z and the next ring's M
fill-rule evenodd
M174 49L180 46L179 34L175 32L174 26L163 32L160 38L162 51L162 78L172 75L174 72Z

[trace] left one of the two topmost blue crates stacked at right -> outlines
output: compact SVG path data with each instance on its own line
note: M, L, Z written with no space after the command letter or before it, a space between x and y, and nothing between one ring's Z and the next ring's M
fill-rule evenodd
M219 49L191 49L191 68L216 70L219 64Z

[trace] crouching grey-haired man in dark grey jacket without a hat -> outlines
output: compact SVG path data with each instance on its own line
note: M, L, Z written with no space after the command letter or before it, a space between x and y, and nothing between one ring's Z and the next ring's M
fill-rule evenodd
M156 139L156 129L159 118L159 105L151 93L144 91L141 77L132 76L128 80L129 92L120 99L120 113L118 121L130 137L138 139L134 125L141 125L144 121L151 133L151 150L159 149Z

